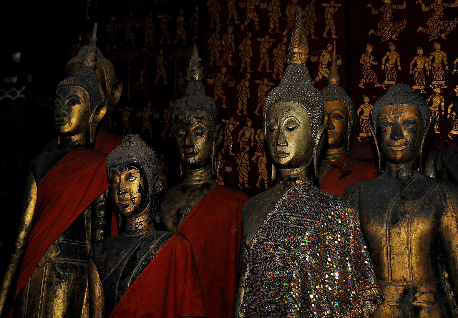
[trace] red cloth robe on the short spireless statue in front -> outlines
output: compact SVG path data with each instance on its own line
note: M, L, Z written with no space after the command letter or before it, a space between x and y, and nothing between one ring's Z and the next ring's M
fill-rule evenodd
M207 317L191 244L167 241L114 307L110 318Z

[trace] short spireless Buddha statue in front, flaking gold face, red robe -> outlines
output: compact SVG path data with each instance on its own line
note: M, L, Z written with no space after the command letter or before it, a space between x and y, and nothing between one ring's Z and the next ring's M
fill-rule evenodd
M91 317L207 317L191 244L154 229L164 175L153 149L128 134L109 154L107 174L126 226L89 252Z

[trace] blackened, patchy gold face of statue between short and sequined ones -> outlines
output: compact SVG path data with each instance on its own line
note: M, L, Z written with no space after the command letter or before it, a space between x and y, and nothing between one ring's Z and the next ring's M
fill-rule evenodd
M213 121L206 111L180 111L173 118L173 132L180 162L187 169L201 169L212 158Z

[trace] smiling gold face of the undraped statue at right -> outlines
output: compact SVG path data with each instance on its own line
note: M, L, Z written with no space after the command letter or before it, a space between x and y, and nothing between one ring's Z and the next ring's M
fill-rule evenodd
M376 125L380 151L388 162L401 164L417 158L423 131L415 106L383 106L377 112Z

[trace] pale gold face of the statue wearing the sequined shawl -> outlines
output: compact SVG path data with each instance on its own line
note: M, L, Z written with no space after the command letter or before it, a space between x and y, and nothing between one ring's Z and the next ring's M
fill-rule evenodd
M307 164L313 152L309 114L293 102L272 104L266 113L266 144L277 168L298 168Z

